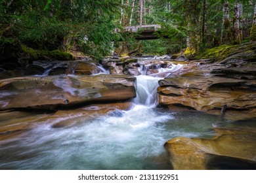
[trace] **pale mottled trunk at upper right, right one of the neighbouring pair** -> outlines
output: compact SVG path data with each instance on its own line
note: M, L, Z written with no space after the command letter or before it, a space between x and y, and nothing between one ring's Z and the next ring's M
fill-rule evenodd
M234 6L234 18L233 18L233 31L234 31L234 43L239 44L240 43L240 28L239 28L239 4L236 4Z

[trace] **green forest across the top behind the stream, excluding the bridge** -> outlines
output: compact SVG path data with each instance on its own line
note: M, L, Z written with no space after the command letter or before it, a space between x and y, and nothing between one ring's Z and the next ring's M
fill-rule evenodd
M0 16L1 59L51 58L62 52L99 59L110 54L113 42L117 54L141 45L140 54L183 49L192 55L256 40L254 0L1 0ZM167 38L136 41L121 33L125 26L146 24L160 24Z

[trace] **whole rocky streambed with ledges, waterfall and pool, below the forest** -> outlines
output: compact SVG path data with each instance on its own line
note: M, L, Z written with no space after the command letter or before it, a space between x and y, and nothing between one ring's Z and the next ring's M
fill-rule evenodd
M256 169L253 48L2 69L0 168Z

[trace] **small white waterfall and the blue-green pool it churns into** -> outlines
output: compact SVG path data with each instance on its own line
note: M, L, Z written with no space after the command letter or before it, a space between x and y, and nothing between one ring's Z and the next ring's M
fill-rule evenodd
M72 127L42 123L27 135L0 143L0 169L171 169L166 141L211 137L211 128L223 122L202 112L156 107L160 79L137 76L137 98L129 110Z

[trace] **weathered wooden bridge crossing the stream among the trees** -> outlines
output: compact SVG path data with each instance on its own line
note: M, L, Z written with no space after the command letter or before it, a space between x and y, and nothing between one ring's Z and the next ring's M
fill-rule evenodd
M135 39L137 40L150 40L150 39L159 39L157 32L161 28L161 25L152 24L152 25L136 25L124 27L124 33L137 33Z

